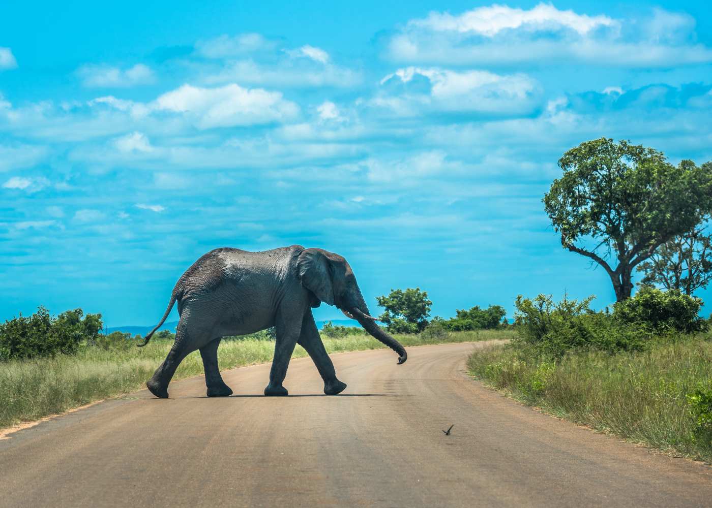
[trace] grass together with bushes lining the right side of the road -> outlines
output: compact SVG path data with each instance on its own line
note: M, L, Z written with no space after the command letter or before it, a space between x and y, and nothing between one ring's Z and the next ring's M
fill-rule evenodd
M645 297L627 302L645 307L636 301ZM587 302L554 305L543 295L517 307L517 337L474 352L473 376L555 416L712 462L712 334L701 331L704 320L632 323L620 307L592 312Z

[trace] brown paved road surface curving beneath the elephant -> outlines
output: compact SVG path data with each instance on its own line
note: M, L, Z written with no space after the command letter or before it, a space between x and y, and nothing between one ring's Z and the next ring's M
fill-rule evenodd
M288 398L268 365L107 401L0 441L2 507L710 507L712 468L536 413L463 374L481 344L309 359ZM452 435L441 429L455 424Z

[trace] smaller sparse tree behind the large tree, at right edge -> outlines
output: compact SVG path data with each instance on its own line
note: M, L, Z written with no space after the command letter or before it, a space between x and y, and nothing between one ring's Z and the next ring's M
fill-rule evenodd
M659 284L666 290L693 295L712 280L712 234L706 235L702 223L660 246L638 271L644 272L643 285Z

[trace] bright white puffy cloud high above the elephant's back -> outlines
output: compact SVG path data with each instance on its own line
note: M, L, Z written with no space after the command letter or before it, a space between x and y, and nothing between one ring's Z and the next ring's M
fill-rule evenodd
M219 88L183 85L158 97L153 107L193 115L200 129L283 122L299 112L280 92L234 84Z

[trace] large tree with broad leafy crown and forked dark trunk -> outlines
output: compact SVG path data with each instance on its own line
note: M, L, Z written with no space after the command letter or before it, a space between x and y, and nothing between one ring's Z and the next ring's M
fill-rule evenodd
M618 302L630 297L637 265L712 211L711 163L673 166L662 152L601 138L570 149L559 166L544 208L562 247L601 265Z

